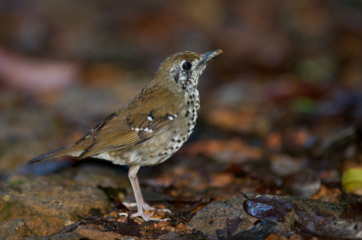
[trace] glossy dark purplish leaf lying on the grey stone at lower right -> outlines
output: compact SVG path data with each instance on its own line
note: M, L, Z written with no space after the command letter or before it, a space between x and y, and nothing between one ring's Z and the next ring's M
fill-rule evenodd
M244 201L243 208L250 215L276 221L284 221L287 213L297 205L281 197L263 195L251 197Z

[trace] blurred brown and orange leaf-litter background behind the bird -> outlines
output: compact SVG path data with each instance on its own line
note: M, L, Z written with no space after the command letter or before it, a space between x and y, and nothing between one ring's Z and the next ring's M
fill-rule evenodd
M172 159L322 183L361 165L361 0L2 0L0 174L81 138L171 54L216 49Z

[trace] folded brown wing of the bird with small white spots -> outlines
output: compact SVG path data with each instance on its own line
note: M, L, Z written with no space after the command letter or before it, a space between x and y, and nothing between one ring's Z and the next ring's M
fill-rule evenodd
M140 145L167 131L174 123L176 110L170 109L163 116L160 116L158 110L143 110L129 115L122 112L111 114L85 136L85 139L93 138L92 145L79 158Z

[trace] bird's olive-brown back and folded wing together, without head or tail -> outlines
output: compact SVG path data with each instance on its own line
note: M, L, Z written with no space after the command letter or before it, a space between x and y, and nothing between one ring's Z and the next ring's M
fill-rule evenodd
M168 104L159 106L159 96ZM142 104L141 104L142 102ZM136 94L121 109L110 114L84 139L92 138L92 145L79 158L90 157L127 146L141 145L169 130L176 121L177 106L182 99L152 82ZM157 107L155 105L158 105ZM141 130L142 129L142 130ZM137 131L136 131L137 130Z

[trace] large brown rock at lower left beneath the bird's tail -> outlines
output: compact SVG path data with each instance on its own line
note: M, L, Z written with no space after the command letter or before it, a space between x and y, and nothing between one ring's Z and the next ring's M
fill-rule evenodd
M126 176L110 167L89 165L43 176L13 175L0 181L0 222L4 229L0 239L8 239L4 234L13 239L51 235L90 209L106 213L111 202L98 184L120 187L129 183Z

